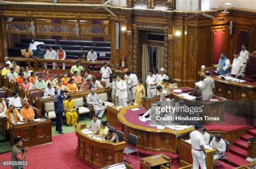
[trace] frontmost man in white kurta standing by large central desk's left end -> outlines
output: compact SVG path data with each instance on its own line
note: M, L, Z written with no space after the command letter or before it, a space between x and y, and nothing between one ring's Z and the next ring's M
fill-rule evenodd
M117 95L118 105L122 107L127 106L127 86L124 80L121 79L121 76L117 76Z

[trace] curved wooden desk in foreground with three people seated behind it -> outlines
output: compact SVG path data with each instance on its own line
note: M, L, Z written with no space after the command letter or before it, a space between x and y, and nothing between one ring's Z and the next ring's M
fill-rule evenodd
M85 129L85 126L86 124L76 125L77 154L79 156L97 167L105 167L124 161L126 142L113 143L93 139L81 131Z

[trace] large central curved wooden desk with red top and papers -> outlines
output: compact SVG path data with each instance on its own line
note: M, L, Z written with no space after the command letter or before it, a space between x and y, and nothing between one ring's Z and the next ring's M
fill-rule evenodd
M157 129L156 126L150 126L150 122L139 121L139 116L146 110L139 105L133 106L139 108L132 111L130 107L122 108L117 117L122 123L122 131L125 133L125 139L130 133L138 136L138 147L143 150L168 151L178 153L179 139L188 138L188 134L194 128L174 131L172 129Z

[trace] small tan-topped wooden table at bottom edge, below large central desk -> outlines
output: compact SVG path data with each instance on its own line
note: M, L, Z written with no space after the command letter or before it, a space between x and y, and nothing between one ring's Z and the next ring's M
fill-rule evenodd
M140 159L140 168L171 168L171 157L165 156L164 154L156 154L154 156L142 158Z

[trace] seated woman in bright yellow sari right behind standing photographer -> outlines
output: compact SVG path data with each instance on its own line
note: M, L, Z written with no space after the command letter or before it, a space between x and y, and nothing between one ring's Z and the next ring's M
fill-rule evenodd
M66 124L73 126L77 123L77 109L78 107L76 107L75 101L72 100L72 96L69 95L66 101L64 101Z

